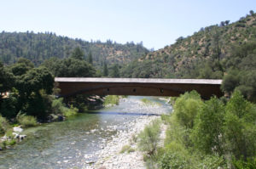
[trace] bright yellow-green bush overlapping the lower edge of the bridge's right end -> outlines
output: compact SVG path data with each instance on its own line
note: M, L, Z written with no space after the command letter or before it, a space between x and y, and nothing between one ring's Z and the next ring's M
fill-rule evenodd
M177 120L186 128L194 127L195 116L201 109L201 97L195 91L181 95L174 105Z

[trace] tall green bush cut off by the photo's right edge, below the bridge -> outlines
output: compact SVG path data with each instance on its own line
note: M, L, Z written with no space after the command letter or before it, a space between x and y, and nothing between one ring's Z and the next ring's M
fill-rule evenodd
M226 149L239 160L256 152L256 109L236 91L225 108L224 138Z

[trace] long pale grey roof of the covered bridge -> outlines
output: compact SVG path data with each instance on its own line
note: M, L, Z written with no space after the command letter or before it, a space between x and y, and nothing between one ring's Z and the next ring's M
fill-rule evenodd
M220 79L157 79L157 78L94 78L55 77L55 82L108 82L108 83L172 83L172 84L212 84L220 85Z

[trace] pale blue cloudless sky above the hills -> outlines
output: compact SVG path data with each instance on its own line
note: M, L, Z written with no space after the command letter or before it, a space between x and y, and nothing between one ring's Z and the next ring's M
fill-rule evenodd
M143 42L156 50L250 10L256 0L0 0L0 31Z

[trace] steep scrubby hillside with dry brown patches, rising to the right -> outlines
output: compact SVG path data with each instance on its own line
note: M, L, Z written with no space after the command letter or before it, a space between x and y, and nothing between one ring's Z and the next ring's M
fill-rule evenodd
M256 14L210 25L123 68L125 77L222 78L235 49L256 41ZM254 55L255 56L255 55Z

